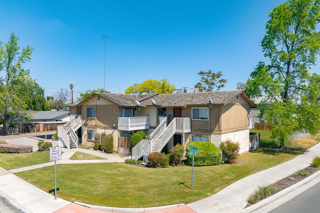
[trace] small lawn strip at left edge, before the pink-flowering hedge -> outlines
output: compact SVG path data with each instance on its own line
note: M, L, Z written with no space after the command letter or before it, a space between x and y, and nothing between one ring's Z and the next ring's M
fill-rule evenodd
M28 153L0 153L0 166L6 170L17 169L49 161L49 151Z

